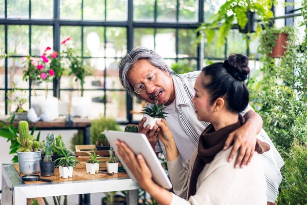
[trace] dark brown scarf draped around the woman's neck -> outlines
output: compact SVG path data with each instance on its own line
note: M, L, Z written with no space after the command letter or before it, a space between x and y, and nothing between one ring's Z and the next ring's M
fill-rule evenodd
M200 136L198 155L195 159L194 167L191 174L188 198L195 195L196 183L198 177L203 171L206 163L210 163L215 155L223 150L226 139L230 133L238 129L244 124L245 120L242 115L239 115L239 120L235 124L226 126L220 130L215 131L212 124L210 124ZM231 144L232 145L232 144ZM259 154L270 150L270 146L257 139L255 151Z

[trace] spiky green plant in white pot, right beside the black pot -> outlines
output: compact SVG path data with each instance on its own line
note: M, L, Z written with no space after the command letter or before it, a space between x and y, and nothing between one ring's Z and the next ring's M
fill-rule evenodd
M59 161L59 173L62 178L73 177L73 169L76 169L76 164L81 163L73 156L70 156L70 151L65 150L64 147L60 144L61 152L64 154L63 157L56 159L55 161Z

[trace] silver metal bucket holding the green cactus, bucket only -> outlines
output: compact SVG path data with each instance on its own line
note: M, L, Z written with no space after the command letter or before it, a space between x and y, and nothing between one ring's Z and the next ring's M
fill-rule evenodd
M20 174L35 174L39 172L41 150L38 152L17 152L17 155Z

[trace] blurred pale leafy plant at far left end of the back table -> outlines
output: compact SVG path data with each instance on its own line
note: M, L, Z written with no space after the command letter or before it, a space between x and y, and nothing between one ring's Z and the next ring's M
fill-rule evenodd
M14 104L16 106L16 110L13 112L13 114L17 115L17 119L20 119L19 114L27 113L27 111L23 109L23 105L27 103L27 98L25 95L26 95L26 91L20 90L14 82L13 82L13 89L9 90L7 93L8 104L9 105ZM22 120L25 120L25 119L22 119Z

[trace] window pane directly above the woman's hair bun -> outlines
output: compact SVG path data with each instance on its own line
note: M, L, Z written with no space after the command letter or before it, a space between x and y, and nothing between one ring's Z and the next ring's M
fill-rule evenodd
M231 30L227 38L227 55L238 53L246 55L246 34Z

